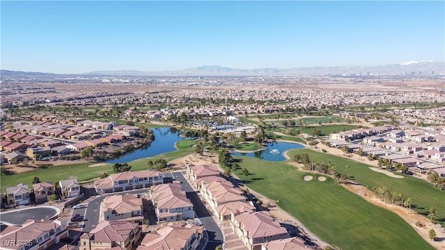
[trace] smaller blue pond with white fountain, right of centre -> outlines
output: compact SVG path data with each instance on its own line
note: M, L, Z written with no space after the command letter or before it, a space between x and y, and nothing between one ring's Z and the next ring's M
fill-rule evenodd
M282 161L286 160L283 153L289 149L302 149L305 146L299 143L271 142L266 145L266 149L252 153L240 153L233 151L232 156L248 156L261 160Z

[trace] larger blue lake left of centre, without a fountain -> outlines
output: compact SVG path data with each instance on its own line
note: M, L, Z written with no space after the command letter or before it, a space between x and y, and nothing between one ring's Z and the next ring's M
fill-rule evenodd
M185 138L179 136L179 130L176 128L162 127L152 128L154 132L154 141L148 147L136 149L130 153L115 158L113 160L107 160L106 163L128 163L132 160L138 160L141 158L157 156L161 153L167 153L176 151L175 143Z

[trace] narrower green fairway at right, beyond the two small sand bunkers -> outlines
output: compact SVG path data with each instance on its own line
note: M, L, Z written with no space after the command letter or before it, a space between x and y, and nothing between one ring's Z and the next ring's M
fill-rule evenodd
M311 160L317 162L330 161L337 172L344 173L357 183L369 187L385 187L389 192L397 192L406 197L412 197L412 209L417 213L426 215L430 207L434 207L437 213L437 221L445 226L445 192L434 185L419 178L403 175L404 178L393 178L385 174L374 172L369 165L355 160L333 156L328 153L320 153L309 149L294 149L288 152L291 159L296 153L307 153ZM348 165L349 167L346 167Z

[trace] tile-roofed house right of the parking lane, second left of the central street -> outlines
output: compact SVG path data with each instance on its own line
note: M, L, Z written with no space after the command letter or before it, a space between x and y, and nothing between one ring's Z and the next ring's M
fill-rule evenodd
M113 195L102 201L104 219L115 221L125 219L129 222L142 222L142 199L138 194Z

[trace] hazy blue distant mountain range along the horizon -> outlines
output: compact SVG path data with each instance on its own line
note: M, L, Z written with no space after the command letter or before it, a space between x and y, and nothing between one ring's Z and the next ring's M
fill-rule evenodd
M327 76L341 74L445 74L444 62L415 62L378 65L372 67L300 67L293 69L234 69L220 66L202 66L183 70L142 72L137 70L96 71L83 74L51 74L40 72L17 72L1 69L1 77L54 77L54 76Z

